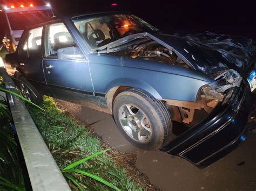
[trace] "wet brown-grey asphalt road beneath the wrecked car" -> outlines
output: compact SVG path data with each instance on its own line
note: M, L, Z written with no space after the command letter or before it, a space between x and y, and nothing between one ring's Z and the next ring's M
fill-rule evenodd
M161 190L256 190L256 134L237 150L204 169L161 151L144 151L132 146L118 131L111 115L61 101L73 116L87 124L111 147L138 155L136 166ZM255 116L256 118L256 116Z

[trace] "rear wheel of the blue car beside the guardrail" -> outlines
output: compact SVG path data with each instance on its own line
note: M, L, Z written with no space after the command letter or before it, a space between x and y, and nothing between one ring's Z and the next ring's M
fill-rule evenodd
M32 86L25 77L20 76L17 81L19 90L21 90L23 97L27 98L35 104L41 104L43 102L42 94L38 93L36 88Z

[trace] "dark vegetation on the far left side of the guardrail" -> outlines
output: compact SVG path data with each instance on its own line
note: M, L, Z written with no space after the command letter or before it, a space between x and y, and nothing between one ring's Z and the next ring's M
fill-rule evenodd
M0 88L3 88L1 75ZM11 112L5 97L0 96L0 190L25 190L18 147L10 126Z

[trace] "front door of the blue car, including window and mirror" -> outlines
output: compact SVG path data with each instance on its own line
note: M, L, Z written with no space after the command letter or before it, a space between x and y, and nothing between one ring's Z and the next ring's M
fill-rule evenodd
M64 23L46 26L43 69L55 97L72 102L89 100L93 86L89 62Z

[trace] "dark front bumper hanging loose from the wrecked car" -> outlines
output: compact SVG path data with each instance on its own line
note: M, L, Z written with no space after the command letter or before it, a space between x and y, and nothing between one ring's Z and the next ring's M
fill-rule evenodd
M160 150L178 155L199 168L224 157L244 142L250 114L250 89L242 82L230 100Z

